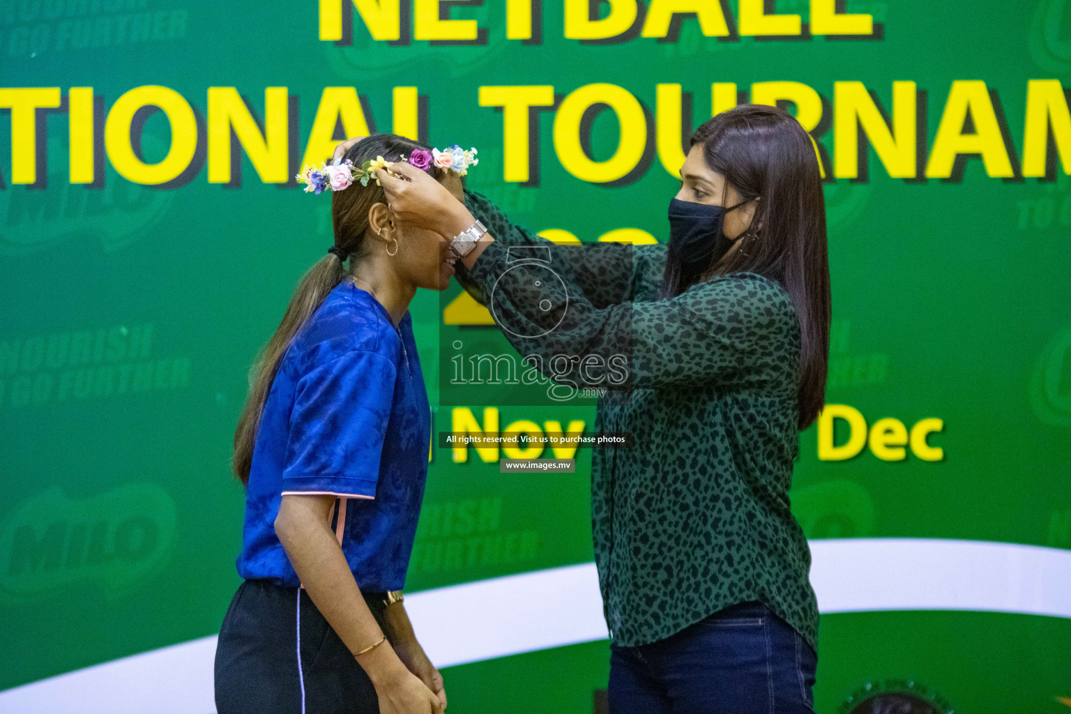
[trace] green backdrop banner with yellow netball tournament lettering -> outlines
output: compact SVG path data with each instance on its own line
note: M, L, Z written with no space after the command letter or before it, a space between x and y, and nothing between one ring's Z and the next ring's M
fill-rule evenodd
M376 131L476 147L514 221L662 241L683 138L753 102L826 182L829 407L791 492L816 552L994 546L887 599L849 587L884 561L825 562L817 710L1069 711L1069 82L1068 0L5 0L0 689L217 632L246 370L332 241L304 163ZM411 309L436 431L590 430L440 400L444 338L506 343L456 285ZM509 455L436 441L407 590L591 561L590 452ZM448 668L451 711L591 712L607 643L561 644Z

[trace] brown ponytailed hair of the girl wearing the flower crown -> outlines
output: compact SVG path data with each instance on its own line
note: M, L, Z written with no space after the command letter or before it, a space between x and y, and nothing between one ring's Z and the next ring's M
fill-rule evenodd
M377 156L396 162L403 154L408 156L414 149L429 151L428 147L402 136L373 134L350 147L344 158L352 161L353 165L359 167L365 161ZM439 181L446 177L446 172L435 166L429 168L429 172ZM375 181L367 186L356 183L345 191L332 192L331 224L334 228L334 244L349 255L350 270L355 261L360 261L363 253L364 233L368 228L368 210L375 203L386 202L383 189ZM278 364L293 336L348 272L344 261L331 253L310 268L298 283L290 298L290 304L283 315L283 321L275 329L275 334L261 348L250 369L250 393L242 415L238 420L238 428L235 430L235 454L231 458L231 470L243 484L250 482L253 447L260 425L260 414L268 400L268 392L271 390L272 380L275 379Z

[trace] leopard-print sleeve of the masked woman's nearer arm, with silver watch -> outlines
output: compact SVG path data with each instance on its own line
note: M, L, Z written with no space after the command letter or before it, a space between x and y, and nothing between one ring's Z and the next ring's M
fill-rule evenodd
M600 308L564 277L546 279L534 263L512 263L498 242L469 274L494 293L494 314L522 354L543 365L565 355L578 365L564 376L541 369L555 381L606 389L795 385L796 313L784 289L760 275L726 275L669 300Z

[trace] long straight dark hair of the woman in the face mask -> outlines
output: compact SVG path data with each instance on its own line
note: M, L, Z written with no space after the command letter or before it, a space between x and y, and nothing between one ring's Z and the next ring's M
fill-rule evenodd
M741 237L746 243L702 275L682 280L679 260L667 259L664 294L726 273L757 273L780 283L800 323L799 428L806 428L826 404L831 312L826 200L811 136L783 109L745 104L699 126L689 149L697 145L741 201L760 200Z

